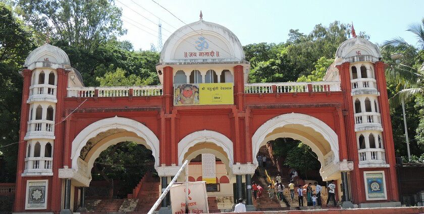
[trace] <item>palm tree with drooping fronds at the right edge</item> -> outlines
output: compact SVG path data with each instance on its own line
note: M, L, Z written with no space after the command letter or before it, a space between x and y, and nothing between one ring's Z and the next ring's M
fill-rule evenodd
M387 54L402 53L402 63L388 60L386 77L402 86L402 90L390 98L392 107L399 106L402 101L412 101L416 96L424 94L424 18L420 23L409 25L407 31L417 37L416 45L408 44L397 37L383 43L383 52Z

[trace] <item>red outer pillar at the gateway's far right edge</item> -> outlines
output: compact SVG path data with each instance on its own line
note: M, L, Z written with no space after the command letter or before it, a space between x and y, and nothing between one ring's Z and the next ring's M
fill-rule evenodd
M393 131L392 131L392 120L390 118L390 107L389 97L387 95L387 84L386 77L384 75L384 62L377 61L374 64L374 70L376 74L377 89L380 92L379 106L381 112L381 123L383 126L383 144L386 153L386 163L390 165L389 175L386 175L386 186L390 187L392 195L387 193L387 199L399 201L397 176L396 176L396 159L395 159L395 147L393 144ZM386 188L387 188L386 187Z

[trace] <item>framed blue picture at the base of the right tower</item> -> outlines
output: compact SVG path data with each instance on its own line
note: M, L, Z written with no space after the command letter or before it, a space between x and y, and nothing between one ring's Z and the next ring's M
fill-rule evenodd
M386 179L384 171L363 172L366 200L386 200Z

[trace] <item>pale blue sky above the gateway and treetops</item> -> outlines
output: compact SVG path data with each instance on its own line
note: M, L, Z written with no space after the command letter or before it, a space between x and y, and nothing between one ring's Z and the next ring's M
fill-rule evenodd
M176 29L185 25L176 17L186 24L196 22L200 10L204 21L227 27L242 45L285 42L290 29L308 34L316 24L328 26L336 20L346 24L353 22L355 31L370 35L369 40L374 43L402 37L415 45L416 38L406 29L424 18L424 1L420 0L154 0L176 17L152 0L115 1L116 6L122 8L124 28L128 30L120 39L129 40L135 50L149 50L151 43L157 45L159 20L165 44Z

